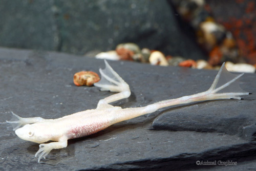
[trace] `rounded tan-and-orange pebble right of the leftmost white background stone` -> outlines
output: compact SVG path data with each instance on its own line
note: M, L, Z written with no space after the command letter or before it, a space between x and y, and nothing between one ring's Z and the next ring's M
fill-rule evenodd
M140 48L134 43L119 44L116 53L122 60L133 60L133 55L140 53Z

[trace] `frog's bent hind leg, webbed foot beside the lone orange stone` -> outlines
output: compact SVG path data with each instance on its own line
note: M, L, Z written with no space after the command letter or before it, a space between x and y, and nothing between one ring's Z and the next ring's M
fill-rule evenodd
M101 91L119 92L104 99L99 100L97 109L111 106L108 103L128 98L131 95L129 85L110 67L109 63L104 60L105 69L99 69L101 79L94 83Z

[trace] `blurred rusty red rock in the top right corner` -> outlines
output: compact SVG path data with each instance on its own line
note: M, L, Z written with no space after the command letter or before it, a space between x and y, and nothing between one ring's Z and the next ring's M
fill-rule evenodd
M233 34L240 56L256 65L256 12L255 1L206 1L218 23ZM227 12L228 11L228 12Z

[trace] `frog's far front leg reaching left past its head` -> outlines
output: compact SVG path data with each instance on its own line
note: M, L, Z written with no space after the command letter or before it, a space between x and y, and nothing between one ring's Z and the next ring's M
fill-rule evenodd
M17 130L19 127L24 126L26 124L41 122L45 120L44 118L41 118L41 117L22 118L13 112L12 112L12 115L13 115L12 119L6 122L11 123L13 127L13 131Z

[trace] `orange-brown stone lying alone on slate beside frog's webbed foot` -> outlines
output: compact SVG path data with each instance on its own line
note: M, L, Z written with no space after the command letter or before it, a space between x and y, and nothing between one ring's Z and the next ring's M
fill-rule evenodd
M92 86L100 80L99 75L92 71L80 71L74 75L74 84L76 86Z

